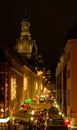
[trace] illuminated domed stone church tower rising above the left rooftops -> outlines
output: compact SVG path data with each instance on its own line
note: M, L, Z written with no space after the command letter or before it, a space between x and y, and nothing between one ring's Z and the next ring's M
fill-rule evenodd
M26 16L21 22L21 33L16 43L15 50L29 59L31 57L32 47L33 41L30 34L30 23Z

